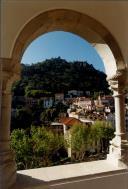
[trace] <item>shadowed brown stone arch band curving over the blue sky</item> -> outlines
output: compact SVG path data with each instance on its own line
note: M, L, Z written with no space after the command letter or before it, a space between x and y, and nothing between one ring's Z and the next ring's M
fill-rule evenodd
M114 74L116 74L116 70L125 69L125 63L121 50L116 40L106 27L104 27L94 18L91 18L83 13L69 9L56 9L37 15L36 17L32 18L21 30L12 50L13 70L15 68L16 70L19 70L19 63L26 47L36 37L46 32L56 30L77 34L90 43L107 44L115 59L113 63L115 64L113 68ZM105 66L107 66L106 63Z

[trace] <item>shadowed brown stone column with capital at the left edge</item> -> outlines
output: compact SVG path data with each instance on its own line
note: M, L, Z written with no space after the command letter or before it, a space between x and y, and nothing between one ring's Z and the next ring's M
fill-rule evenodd
M2 71L0 115L0 189L9 189L16 182L16 163L10 148L11 86L17 75Z

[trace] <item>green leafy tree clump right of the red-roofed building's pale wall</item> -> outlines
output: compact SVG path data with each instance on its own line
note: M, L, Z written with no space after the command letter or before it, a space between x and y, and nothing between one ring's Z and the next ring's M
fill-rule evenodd
M75 125L70 132L72 159L79 161L85 159L86 152L106 154L109 141L114 137L114 129L106 121L96 121L91 127Z

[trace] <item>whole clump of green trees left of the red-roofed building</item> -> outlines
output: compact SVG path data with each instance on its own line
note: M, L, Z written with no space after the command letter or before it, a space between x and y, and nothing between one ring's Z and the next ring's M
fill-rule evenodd
M18 169L31 169L50 166L65 157L60 153L65 150L64 137L55 135L44 127L32 126L30 131L13 130L11 147L16 154Z

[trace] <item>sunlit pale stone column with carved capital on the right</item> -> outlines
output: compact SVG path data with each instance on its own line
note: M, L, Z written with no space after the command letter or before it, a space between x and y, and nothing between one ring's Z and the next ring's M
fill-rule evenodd
M110 142L107 159L117 166L128 166L128 141L125 126L125 71L118 71L108 79L115 101L115 137Z

